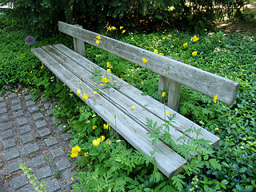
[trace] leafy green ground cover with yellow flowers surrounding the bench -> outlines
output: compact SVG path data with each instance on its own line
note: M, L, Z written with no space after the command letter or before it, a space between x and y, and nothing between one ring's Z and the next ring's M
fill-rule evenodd
M33 45L27 46L25 39L33 34L24 34L18 23L15 24L2 15L0 21L1 90L15 90L20 84L29 86L35 97L45 94L47 98L54 98L54 114L66 121L64 131L72 133L71 144L74 148L69 155L70 158L76 158L79 170L73 178L77 181L73 186L74 191L256 189L254 35L224 34L219 31L198 35L178 30L154 34L122 34L121 30L111 30L106 34L146 50L181 58L189 65L230 78L240 84L236 102L232 106L226 106L218 102L218 99L214 103L211 98L182 86L179 112L221 138L219 145L214 148L214 154L209 155L210 159L215 159L221 166L202 166L186 178L183 178L185 172L182 172L178 174L181 182L178 179L167 179L150 163L150 157L134 150L122 138L111 135L110 125L103 122L62 82L55 82L54 74L43 68L41 62L30 52L31 47L58 42L64 42L72 48L71 38L60 35L36 38ZM158 74L88 45L86 56L99 66L111 69L112 73L138 87L145 94L154 98L161 97L158 94ZM110 62L109 65L107 62ZM118 114L114 118L118 118Z

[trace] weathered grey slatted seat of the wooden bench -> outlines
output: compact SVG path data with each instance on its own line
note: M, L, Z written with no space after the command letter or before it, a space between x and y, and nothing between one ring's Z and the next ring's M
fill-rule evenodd
M166 177L170 178L181 172L186 160L163 142L152 146L152 139L147 134L150 128L146 126L146 118L158 122L158 126L160 126L166 119L165 111L170 110L171 114L176 114L174 126L170 127L170 134L174 141L184 133L188 138L196 138L194 133L185 132L194 127L201 130L202 135L199 135L198 138L209 140L212 146L218 145L219 138L214 134L154 98L142 95L142 91L122 81L114 74L108 73L66 46L62 44L43 46L31 51L74 93L81 90L78 97L82 99L82 94L88 94L89 98L85 101L86 104L106 122L110 122L111 127L127 142L130 142L135 149L141 150L148 156L151 156L150 152L156 151L152 157L156 160L158 169ZM110 82L118 81L116 82L117 88L102 89L102 86L98 85L93 78L94 69L99 70L105 77L111 77ZM93 94L94 90L97 90L98 94ZM132 106L136 108L132 109ZM114 119L114 115L117 115L118 118ZM177 144L181 144L181 142L179 141Z

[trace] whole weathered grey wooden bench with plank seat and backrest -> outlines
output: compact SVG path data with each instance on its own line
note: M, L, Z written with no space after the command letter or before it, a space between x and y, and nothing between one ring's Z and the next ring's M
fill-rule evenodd
M161 125L166 118L165 111L169 110L171 114L176 114L174 127L170 127L170 134L174 141L181 137L186 130L194 127L201 129L202 135L199 138L209 140L212 146L218 145L219 138L217 136L175 111L178 108L180 87L183 84L212 98L218 94L218 101L232 104L237 94L237 82L102 34L98 39L96 37L99 34L84 30L80 26L58 22L58 29L74 38L75 51L62 44L43 46L31 51L74 93L77 94L77 90L81 90L78 97L82 98L82 94L88 94L89 98L86 99L86 104L106 122L110 122L111 127L134 148L149 156L151 156L150 152L156 151L153 157L157 162L158 169L167 177L170 178L182 171L186 160L163 142L152 146L152 139L147 134L150 129L146 126L146 118ZM142 91L86 59L84 57L86 54L84 42L158 73L160 76L159 90L169 90L168 106L148 95L142 95ZM147 62L143 63L142 58ZM98 85L93 78L94 69L97 69L104 77L111 77L111 83L117 81L117 87L102 89L102 86ZM98 94L93 94L94 90L97 90ZM132 106L136 108L132 109ZM114 115L117 115L118 118L113 118ZM188 138L195 138L193 133L185 134Z

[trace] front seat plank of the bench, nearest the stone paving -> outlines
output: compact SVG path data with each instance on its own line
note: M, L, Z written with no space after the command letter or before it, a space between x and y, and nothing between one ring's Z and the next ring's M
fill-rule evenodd
M57 62L54 58L51 58L49 54L46 54L41 48L35 48L31 50L59 79L62 80L71 90L76 93L76 90L82 89L82 93L92 93L93 89L88 86L82 79L76 77L70 70L67 70L62 64ZM81 84L78 84L81 81ZM82 98L82 94L78 95ZM130 142L137 150L142 150L146 155L151 156L150 151L156 150L153 154L153 158L156 160L158 169L162 171L167 177L171 177L174 174L178 174L182 170L182 166L185 165L186 160L180 155L175 153L170 147L166 146L162 142L158 142L157 145L151 145L151 139L146 134L141 125L134 122L126 114L119 110L116 106L112 105L106 98L103 98L100 94L90 94L86 100L86 104L90 106L96 113L98 113L106 122L110 122L111 126L121 134L123 138L126 138L127 142ZM118 114L118 119L115 121L114 114Z

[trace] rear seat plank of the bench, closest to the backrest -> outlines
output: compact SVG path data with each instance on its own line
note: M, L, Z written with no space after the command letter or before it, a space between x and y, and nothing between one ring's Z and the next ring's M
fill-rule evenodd
M93 62L90 62L88 59L83 58L81 55L68 49L66 46L58 44L54 45L54 47L58 49L58 51L61 51L63 54L68 55L68 57L74 60L74 62L77 62L79 66L82 66L85 70L90 71L91 74L94 74L93 67L100 70L101 74L109 74L106 72L106 70L103 70L101 67L97 66ZM66 61L66 58L62 59L62 62ZM209 140L211 142L210 144L213 146L216 146L218 144L219 138L214 134L211 134L209 131L202 129L201 126L196 125L194 122L191 122L189 119L183 117L181 114L178 114L174 110L171 110L170 107L164 106L162 103L156 101L154 98L150 98L150 96L147 95L142 95L142 91L136 89L134 86L131 86L127 82L122 81L122 79L117 78L114 75L112 75L112 79L118 81L117 85L119 92L126 95L126 97L130 98L134 103L137 103L136 105L144 107L147 111L154 111L154 114L158 118L166 119L166 110L170 110L171 114L176 114L175 122L173 123L176 130L184 133L191 127L195 127L196 129L200 129L202 133L202 136L199 136L198 138L205 138L206 140ZM132 104L130 104L130 106L132 106ZM141 121L143 122L143 120ZM144 122L146 122L146 119ZM197 138L194 133L186 135L190 138Z

